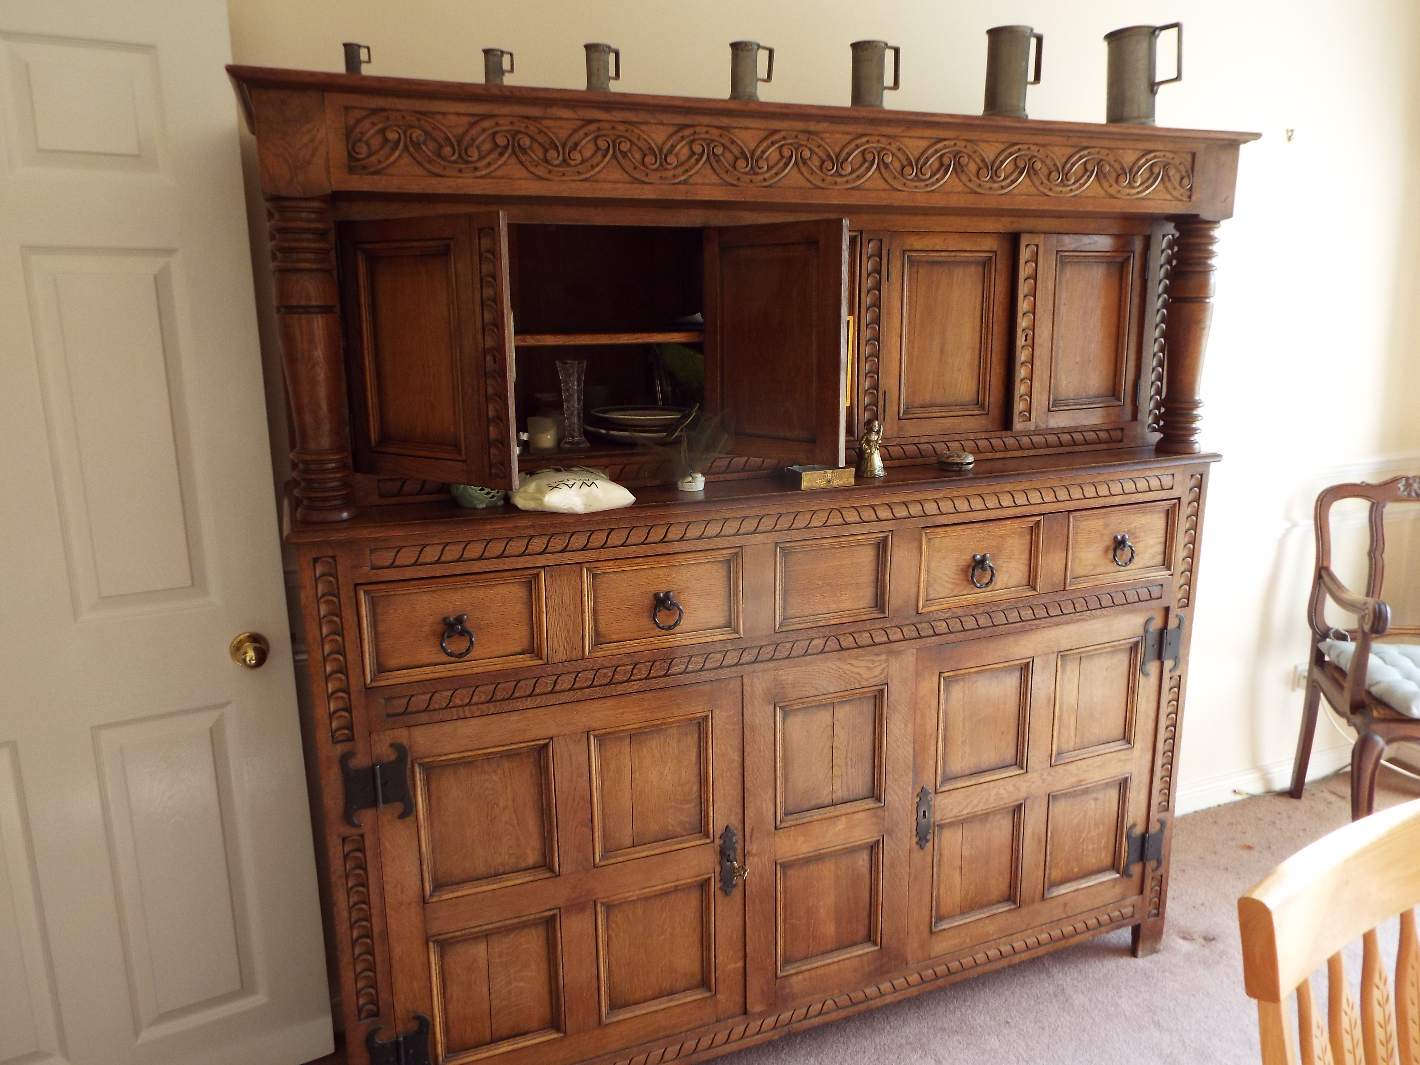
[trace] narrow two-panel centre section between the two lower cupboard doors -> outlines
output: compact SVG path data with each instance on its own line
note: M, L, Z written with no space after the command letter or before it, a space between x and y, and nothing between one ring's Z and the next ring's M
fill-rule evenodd
M750 1012L906 963L910 663L835 656L744 680Z

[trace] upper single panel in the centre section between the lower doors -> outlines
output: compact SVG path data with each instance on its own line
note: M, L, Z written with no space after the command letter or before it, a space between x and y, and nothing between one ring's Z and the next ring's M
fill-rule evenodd
M885 689L777 707L778 824L882 805Z

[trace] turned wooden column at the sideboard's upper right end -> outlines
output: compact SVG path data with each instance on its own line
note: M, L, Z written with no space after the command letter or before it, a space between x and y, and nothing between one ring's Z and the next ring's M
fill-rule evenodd
M1203 352L1208 348L1213 321L1213 266L1218 246L1218 223L1183 219L1177 223L1173 275L1169 280L1169 331L1164 362L1163 433L1156 452L1194 454L1203 400Z

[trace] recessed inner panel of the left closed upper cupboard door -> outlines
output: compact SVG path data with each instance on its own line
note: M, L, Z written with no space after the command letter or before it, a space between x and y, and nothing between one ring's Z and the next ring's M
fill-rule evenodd
M903 250L903 420L987 412L994 280L990 251Z

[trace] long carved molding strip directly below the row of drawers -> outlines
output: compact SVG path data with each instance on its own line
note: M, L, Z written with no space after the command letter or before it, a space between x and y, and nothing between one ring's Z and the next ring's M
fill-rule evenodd
M662 680L682 677L720 669L741 669L761 662L788 662L812 655L831 655L838 650L880 648L907 640L932 639L960 632L994 629L1001 625L1041 621L1044 618L1065 618L1075 613L1106 611L1112 606L1126 606L1139 602L1153 602L1163 598L1162 585L1147 588L1126 588L1118 592L1095 592L1068 599L1004 606L980 613L966 613L954 618L933 618L906 625L888 625L878 629L843 632L834 636L814 636L780 643L763 643L757 648L734 650L701 652L670 659L632 662L621 666L579 669L571 673L548 673L540 677L501 680L470 687L453 687L442 692L419 692L412 696L390 696L385 700L385 714L423 714L439 710L457 710L469 706L503 703L510 699L531 699L554 696L567 692L585 692L594 687L626 684L636 680Z

